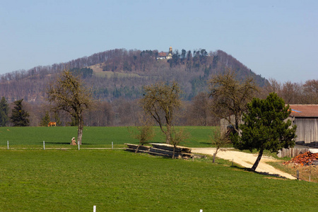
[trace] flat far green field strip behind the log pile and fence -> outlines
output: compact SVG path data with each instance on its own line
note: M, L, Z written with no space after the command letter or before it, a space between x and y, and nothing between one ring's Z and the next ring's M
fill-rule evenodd
M178 126L189 133L189 139L183 146L210 147L210 136L213 126ZM4 148L9 142L9 147L40 147L45 141L46 147L70 147L71 138L77 138L76 126L24 126L0 127L0 147ZM77 139L76 139L77 140ZM165 136L158 126L155 126L155 138L152 142L163 143ZM131 139L129 127L98 127L86 126L83 129L83 148L85 147L123 147L124 143L139 143ZM74 147L75 148L75 147Z

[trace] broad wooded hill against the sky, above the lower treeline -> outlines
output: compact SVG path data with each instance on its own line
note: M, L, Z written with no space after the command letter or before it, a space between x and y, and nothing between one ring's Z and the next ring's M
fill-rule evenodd
M197 93L207 90L207 81L216 73L231 69L237 78L252 76L259 86L266 79L257 75L231 55L218 50L205 49L175 51L171 59L158 59L157 50L112 49L74 59L64 64L37 66L1 75L0 96L9 102L23 98L28 102L44 102L49 82L64 67L81 74L98 100L117 98L136 99L142 95L142 86L156 81L177 81L183 90L183 99L191 100Z

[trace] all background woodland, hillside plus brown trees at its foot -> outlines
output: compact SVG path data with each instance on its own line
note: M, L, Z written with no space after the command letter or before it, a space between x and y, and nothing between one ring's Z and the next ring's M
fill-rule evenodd
M45 100L47 86L63 69L81 76L96 100L94 110L85 114L86 126L139 124L138 100L143 96L143 86L158 81L177 81L182 88L184 104L177 112L177 125L217 125L218 119L208 111L211 99L207 95L207 82L228 69L235 72L238 80L254 78L260 87L258 98L276 92L288 104L318 104L318 80L303 84L267 80L231 55L206 49L175 50L172 59L158 59L157 50L112 49L64 64L13 71L0 76L0 98L6 98L11 109L13 101L23 99L23 107L30 114L30 126L40 126L47 112L59 126L73 125L67 114L50 111Z

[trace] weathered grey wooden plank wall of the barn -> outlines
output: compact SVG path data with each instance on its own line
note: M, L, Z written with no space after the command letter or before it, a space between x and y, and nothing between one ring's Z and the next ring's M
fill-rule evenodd
M297 125L295 141L305 141L305 143L318 141L318 118L296 117L294 124Z

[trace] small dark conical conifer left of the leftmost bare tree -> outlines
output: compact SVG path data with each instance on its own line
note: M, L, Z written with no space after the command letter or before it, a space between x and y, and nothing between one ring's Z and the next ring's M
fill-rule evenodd
M30 116L28 112L25 112L22 108L22 100L16 100L13 102L14 108L12 110L11 114L11 122L13 123L13 126L29 126L29 119L28 117Z

